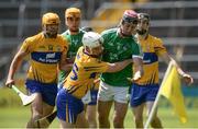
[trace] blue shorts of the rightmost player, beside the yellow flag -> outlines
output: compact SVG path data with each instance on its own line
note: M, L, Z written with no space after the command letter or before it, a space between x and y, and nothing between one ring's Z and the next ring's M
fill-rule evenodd
M157 95L160 85L151 84L151 85L139 85L132 84L131 87L131 107L136 107L145 102L154 102Z

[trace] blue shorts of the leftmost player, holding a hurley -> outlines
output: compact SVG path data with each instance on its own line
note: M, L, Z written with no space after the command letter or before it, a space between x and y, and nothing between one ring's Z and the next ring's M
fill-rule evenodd
M26 90L30 91L30 93L41 93L42 99L51 105L55 106L55 99L57 95L57 84L48 84L48 83L41 83L38 81L34 80L26 80L25 82Z

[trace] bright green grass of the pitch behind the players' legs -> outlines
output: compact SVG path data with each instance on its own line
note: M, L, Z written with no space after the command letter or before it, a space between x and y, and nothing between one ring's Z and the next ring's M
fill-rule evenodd
M25 128L26 121L30 117L30 107L3 107L0 108L0 128ZM172 108L158 108L158 116L162 119L165 128L198 128L198 112L195 108L187 109L188 122L182 124L178 117L173 115ZM134 122L132 119L131 109L128 110L125 117L125 127L133 128ZM58 120L55 119L51 128L58 128ZM112 126L111 126L112 127Z

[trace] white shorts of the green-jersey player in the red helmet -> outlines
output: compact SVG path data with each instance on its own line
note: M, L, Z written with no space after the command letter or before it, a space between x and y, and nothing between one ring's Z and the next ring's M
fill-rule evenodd
M118 103L128 103L129 87L125 86L112 86L100 81L98 99L102 102L114 101Z

